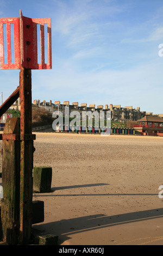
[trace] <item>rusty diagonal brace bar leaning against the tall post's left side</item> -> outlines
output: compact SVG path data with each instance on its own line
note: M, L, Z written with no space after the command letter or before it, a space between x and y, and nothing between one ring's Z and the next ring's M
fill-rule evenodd
M4 103L0 106L0 117L9 109L9 107L14 104L14 102L19 97L19 86L16 88L14 93L12 93L7 100L4 101Z

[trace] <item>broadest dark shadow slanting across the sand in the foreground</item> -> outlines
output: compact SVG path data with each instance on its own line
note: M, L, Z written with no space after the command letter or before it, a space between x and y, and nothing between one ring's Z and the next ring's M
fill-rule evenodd
M153 209L146 211L130 212L121 215L106 216L104 214L89 215L69 220L54 221L51 223L34 226L39 230L50 231L51 234L58 235L58 245L71 239L69 235L96 230L114 225L121 225L133 222L153 220L163 217L163 209ZM162 221L160 221L162 222Z

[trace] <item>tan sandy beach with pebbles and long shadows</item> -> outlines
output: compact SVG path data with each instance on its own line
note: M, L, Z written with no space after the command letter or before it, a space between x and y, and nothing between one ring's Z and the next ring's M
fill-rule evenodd
M53 174L50 193L33 193L45 203L34 228L59 245L163 245L163 137L35 134L34 166Z

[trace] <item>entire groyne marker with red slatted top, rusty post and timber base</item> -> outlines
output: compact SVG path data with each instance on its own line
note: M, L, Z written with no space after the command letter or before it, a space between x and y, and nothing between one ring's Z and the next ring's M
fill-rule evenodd
M11 23L14 24L14 63L11 61ZM4 53L3 24L7 27L7 63L4 63L6 53ZM48 63L45 63L45 24L47 24ZM37 35L37 25L40 25L40 35ZM39 38L40 64L37 60L37 39ZM0 116L18 97L21 98L20 120L8 121L5 125L5 133L0 136L0 139L3 139L2 233L3 239L9 244L26 245L30 243L32 232L32 170L33 140L35 139L32 135L31 70L52 69L51 19L24 17L21 10L20 18L0 18L0 46L1 69L20 69L20 85L0 107Z

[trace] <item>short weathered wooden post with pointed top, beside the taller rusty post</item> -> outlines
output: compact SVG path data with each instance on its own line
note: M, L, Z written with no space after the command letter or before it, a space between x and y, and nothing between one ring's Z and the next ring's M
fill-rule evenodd
M19 236L20 118L9 118L4 127L2 155L3 200L1 221L3 239L16 245Z

